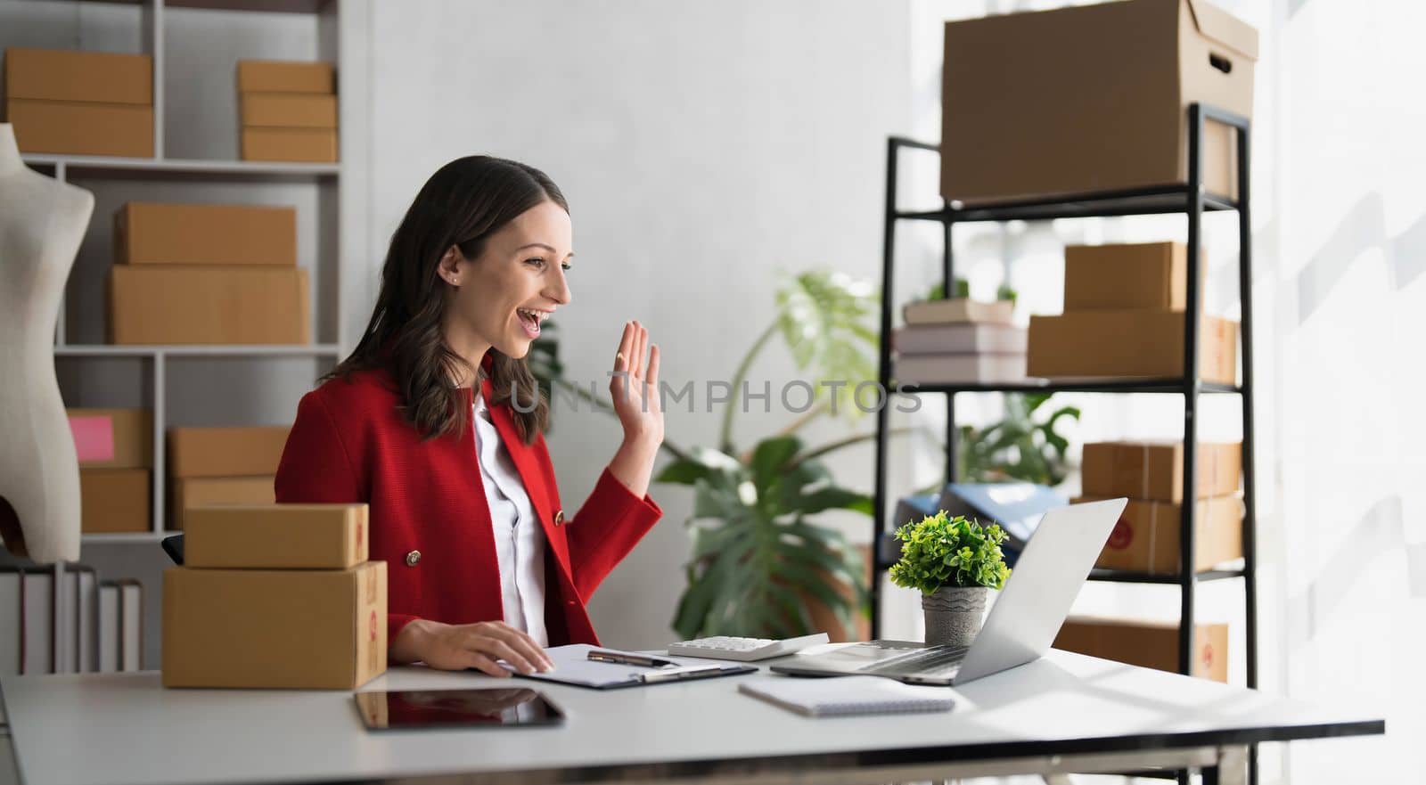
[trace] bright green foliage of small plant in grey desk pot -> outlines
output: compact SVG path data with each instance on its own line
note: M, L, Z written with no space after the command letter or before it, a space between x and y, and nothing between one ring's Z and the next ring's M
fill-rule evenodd
M964 516L947 517L945 510L897 529L901 560L891 566L891 583L931 594L943 586L1001 588L1010 567L1000 544L1005 531L981 526Z

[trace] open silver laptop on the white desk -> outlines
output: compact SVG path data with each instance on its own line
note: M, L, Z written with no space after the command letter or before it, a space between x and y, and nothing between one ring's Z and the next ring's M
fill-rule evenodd
M907 684L964 684L1032 662L1050 650L1127 499L1045 513L970 647L870 641L796 654L771 670L791 675L884 675Z

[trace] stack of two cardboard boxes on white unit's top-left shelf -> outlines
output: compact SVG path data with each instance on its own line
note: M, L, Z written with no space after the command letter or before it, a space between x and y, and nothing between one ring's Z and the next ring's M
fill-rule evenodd
M21 151L153 158L153 57L9 47L4 66Z

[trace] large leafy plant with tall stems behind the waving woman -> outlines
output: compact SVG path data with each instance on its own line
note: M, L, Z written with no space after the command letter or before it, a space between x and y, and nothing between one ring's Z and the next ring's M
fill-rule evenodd
M860 433L809 447L796 432L817 417L856 417L853 390L876 379L877 333L867 322L877 291L841 274L796 275L776 292L777 312L733 373L737 395L753 360L781 336L797 368L816 380L846 380L830 393L814 385L807 412L752 449L733 437L736 406L724 410L719 447L682 450L656 477L693 487L693 554L679 598L679 635L791 637L813 631L809 603L833 611L850 628L866 613L864 560L843 534L817 523L829 510L871 514L871 499L836 483L819 460L873 439Z

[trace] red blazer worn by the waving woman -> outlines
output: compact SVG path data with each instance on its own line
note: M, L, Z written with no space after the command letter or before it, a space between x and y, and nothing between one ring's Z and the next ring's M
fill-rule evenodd
M489 402L491 382L481 389ZM463 395L469 409L471 390ZM379 370L304 395L278 466L277 500L369 504L371 558L386 563L388 641L415 618L499 621L501 576L473 429L422 442L399 405L391 376ZM549 643L597 645L585 603L663 510L605 469L566 517L545 437L525 445L509 405L491 406L491 419L545 529Z

